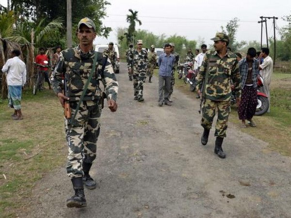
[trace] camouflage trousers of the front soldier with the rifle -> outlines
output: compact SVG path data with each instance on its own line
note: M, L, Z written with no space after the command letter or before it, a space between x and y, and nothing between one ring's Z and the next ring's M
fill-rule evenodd
M72 116L76 111L78 101L70 102ZM67 175L81 177L82 162L92 163L96 158L97 140L100 133L101 105L96 101L83 101L76 115L76 121L71 126L67 156ZM68 124L65 119L65 131Z

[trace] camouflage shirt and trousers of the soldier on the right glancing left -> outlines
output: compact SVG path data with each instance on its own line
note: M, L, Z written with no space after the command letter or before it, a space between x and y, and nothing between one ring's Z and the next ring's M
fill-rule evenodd
M202 106L201 125L206 129L211 128L217 108L218 117L215 136L226 137L228 114L230 112L231 80L235 87L236 96L241 96L241 76L235 54L227 51L226 56L220 58L216 51L207 52L197 75L197 91L202 88L206 71L208 71L208 76L204 88L205 92L203 93L205 102Z

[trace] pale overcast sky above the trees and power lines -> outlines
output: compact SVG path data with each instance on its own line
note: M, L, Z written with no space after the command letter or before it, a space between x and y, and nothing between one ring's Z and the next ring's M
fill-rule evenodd
M162 33L167 36L177 34L188 40L204 39L206 44L212 43L210 38L221 26L234 18L240 19L237 40L260 41L259 16L277 16L276 27L281 28L287 23L283 16L291 14L291 0L108 0L107 15L103 21L111 27L108 39L97 38L97 44L117 42L116 29L128 27L125 21L129 8L138 11L142 21L136 29ZM4 6L7 0L0 0ZM273 19L267 20L268 36L273 36ZM276 32L277 34L278 32ZM277 35L278 36L278 35ZM263 43L265 43L265 27ZM199 45L198 45L199 46Z

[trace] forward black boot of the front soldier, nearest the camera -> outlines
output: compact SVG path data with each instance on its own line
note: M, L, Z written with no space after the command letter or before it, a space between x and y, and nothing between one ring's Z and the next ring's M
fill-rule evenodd
M82 177L72 178L71 181L75 190L75 195L66 201L67 207L87 206Z

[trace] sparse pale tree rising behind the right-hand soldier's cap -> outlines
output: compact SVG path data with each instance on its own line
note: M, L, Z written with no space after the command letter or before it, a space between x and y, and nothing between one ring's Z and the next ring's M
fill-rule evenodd
M236 33L237 30L239 28L239 18L235 17L232 20L230 20L227 24L226 24L226 30L224 29L223 26L221 26L221 30L226 33L229 37L229 44L228 47L231 47L232 51L235 52L238 49L240 49L241 47L243 47L246 42L245 41L241 41L241 42L236 42Z

